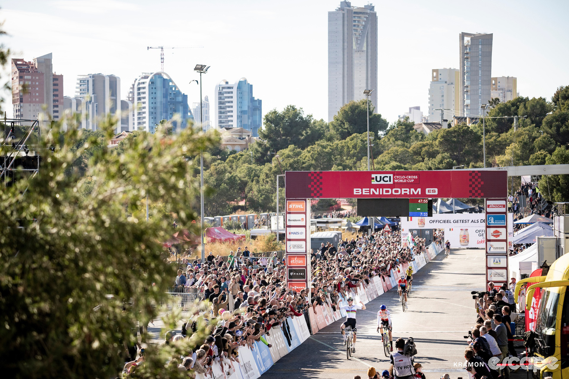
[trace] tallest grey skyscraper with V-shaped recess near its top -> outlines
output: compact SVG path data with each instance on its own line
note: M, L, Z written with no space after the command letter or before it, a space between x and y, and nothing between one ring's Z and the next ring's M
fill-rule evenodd
M374 90L377 107L377 13L373 5L342 1L328 12L328 121L366 89Z

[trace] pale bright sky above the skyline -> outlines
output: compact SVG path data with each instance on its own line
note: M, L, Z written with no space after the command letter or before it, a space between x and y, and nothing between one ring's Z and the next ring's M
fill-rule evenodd
M362 6L364 0L353 1ZM569 1L380 1L378 113L389 122L410 106L428 109L431 69L458 68L458 36L493 33L492 76L515 76L522 96L545 97L569 85ZM73 96L77 75L115 74L122 98L142 72L164 71L189 105L199 101L193 66L211 65L204 95L222 79L246 77L263 114L288 104L327 118L327 18L339 0L5 0L2 41L12 57L53 53ZM5 94L8 114L10 95Z

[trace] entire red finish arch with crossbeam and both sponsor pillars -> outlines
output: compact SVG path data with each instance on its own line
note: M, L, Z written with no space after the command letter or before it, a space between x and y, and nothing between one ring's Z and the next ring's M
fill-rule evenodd
M486 283L508 283L505 170L287 171L284 182L289 289L310 286L310 199L322 198L484 198ZM504 251L489 252L488 241Z

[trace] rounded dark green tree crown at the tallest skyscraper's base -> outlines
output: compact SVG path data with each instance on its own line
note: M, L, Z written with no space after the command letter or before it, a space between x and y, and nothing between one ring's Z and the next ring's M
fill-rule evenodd
M373 113L375 107L369 103L369 131L375 135L387 129L387 121L381 114ZM368 131L368 110L366 99L351 101L340 108L330 123L330 131L337 139Z

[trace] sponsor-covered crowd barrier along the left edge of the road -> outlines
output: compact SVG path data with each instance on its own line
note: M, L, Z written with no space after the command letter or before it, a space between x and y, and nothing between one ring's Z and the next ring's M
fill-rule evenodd
M354 298L354 303L369 303L379 295L397 286L395 278L404 273L409 265L414 272L418 272L429 261L434 259L443 250L442 245L431 244L424 253L415 255L415 260L408 264L401 264L391 269L391 277L375 276L368 285L360 284L357 288L352 288L348 295ZM340 300L346 304L345 298L340 296ZM316 311L310 307L308 319L312 334L316 334L321 328L346 316L345 311L340 311L332 306L331 299L326 299L324 305L317 305ZM265 373L275 362L290 353L310 337L306 317L288 317L282 327L273 327L270 336L264 338L271 345L269 348L261 341L255 341L253 349L248 346L239 347L239 363L222 359L221 363L214 361L212 373L209 375L196 373L197 379L257 379ZM289 345L290 341L290 345Z

